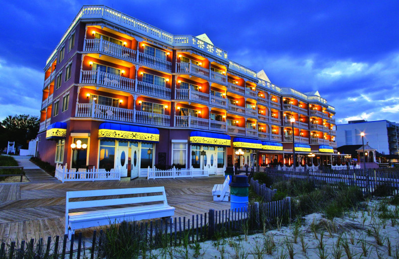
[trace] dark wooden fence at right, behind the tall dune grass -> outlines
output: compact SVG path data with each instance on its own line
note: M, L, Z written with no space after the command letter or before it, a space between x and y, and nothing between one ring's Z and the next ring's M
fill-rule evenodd
M326 167L317 170L293 171L268 168L260 173L266 173L274 181L288 181L293 178L312 181L316 187L321 187L325 184L358 186L364 194L373 193L379 185L390 187L389 190L392 195L399 193L399 170L393 171L378 168L334 170Z

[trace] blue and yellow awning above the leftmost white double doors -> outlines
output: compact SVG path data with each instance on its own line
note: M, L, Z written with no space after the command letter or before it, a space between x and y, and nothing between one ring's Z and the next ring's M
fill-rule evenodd
M118 123L102 123L98 127L98 138L159 142L159 129Z

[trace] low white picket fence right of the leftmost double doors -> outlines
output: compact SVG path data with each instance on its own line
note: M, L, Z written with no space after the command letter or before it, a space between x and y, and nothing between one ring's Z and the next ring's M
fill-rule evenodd
M163 178L192 178L192 177L207 177L208 167L205 166L204 169L201 168L189 168L189 169L177 169L173 167L169 170L161 170L157 168L148 167L147 179L163 179Z

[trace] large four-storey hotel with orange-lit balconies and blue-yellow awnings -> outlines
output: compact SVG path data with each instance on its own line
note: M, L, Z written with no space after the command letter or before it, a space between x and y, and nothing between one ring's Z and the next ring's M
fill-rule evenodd
M172 35L103 5L82 7L44 71L38 152L52 164L212 174L238 148L241 165L292 164L292 130L298 164L337 147L335 109L318 92L272 84L205 34ZM78 140L87 148L72 149Z

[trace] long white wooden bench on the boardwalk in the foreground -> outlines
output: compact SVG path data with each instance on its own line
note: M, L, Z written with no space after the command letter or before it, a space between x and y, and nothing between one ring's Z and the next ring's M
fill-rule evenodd
M161 193L154 195L155 193ZM78 201L69 201L72 198L88 198L111 195L134 195L152 194L153 196L131 197L131 198L115 198L115 199L98 199ZM137 195L136 195L137 196ZM158 202L157 204L148 204ZM129 206L125 208L103 209L85 211L86 208L105 207L113 205L125 204L146 204L139 206ZM69 212L70 210L78 210L77 212ZM66 192L65 201L65 234L71 238L77 229L98 227L109 225L110 223L120 223L122 221L138 221L155 218L172 217L175 215L175 208L168 205L166 200L165 187L146 187L146 188L129 188L129 189L110 189L110 190L92 190L92 191L73 191Z

